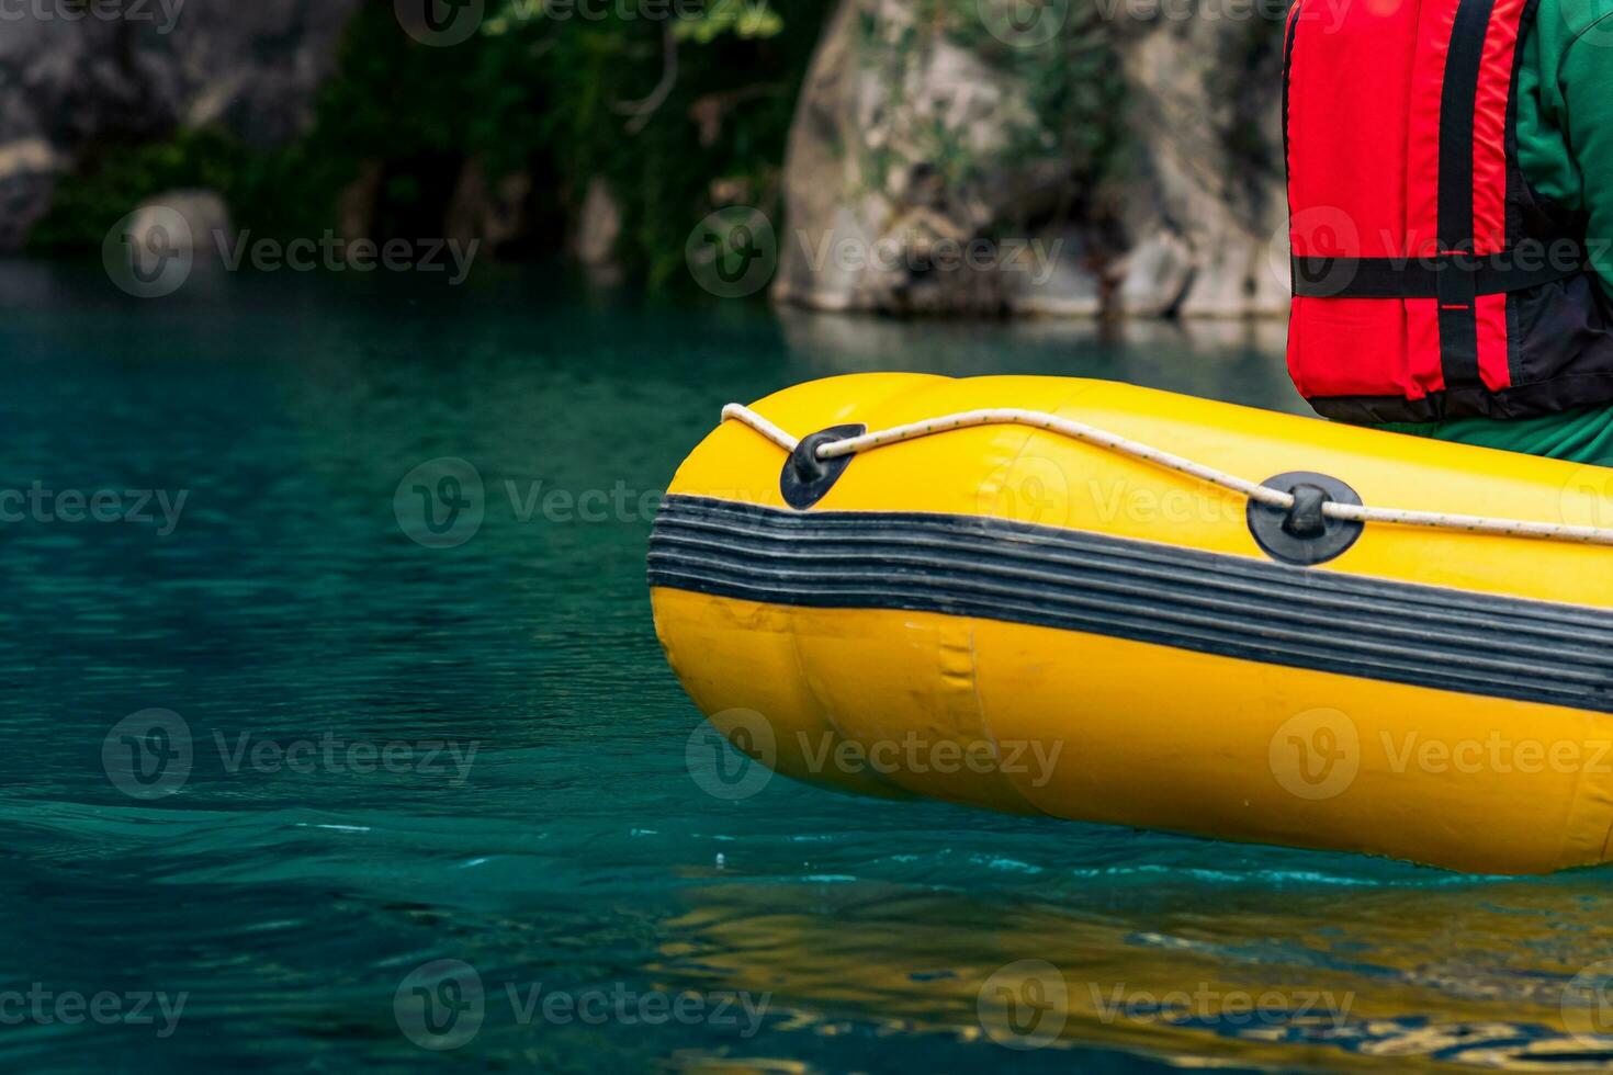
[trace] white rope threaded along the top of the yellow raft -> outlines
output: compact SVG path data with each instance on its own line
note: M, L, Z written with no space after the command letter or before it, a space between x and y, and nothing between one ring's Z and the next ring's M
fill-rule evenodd
M795 437L790 437L782 429L740 403L729 403L723 408L723 419L732 419L750 425L786 451L795 451L795 446L800 443ZM1019 408L965 411L961 414L932 417L926 422L894 425L873 434L863 434L861 437L832 440L829 443L818 445L818 458L837 459L840 456L858 454L873 448L895 445L903 440L915 440L918 437L931 437L934 434L944 434L953 429L971 429L976 425L1029 425L1032 429L1042 429L1086 442L1089 445L1097 445L1123 456L1131 456L1132 459L1152 463L1168 471L1176 471L1177 474L1187 474L1202 482L1219 485L1221 488L1227 488L1240 496L1269 504L1281 511L1294 508L1294 495L1284 493L1279 488L1247 482L1236 474L1227 474L1226 471L1218 471L1211 466L1184 459L1182 456L1171 454L1169 451L1150 448L1148 445L1105 432L1095 425L1087 425L1086 422L1058 417L1057 414L1047 414L1045 411L1023 411ZM1386 522L1392 525L1428 527L1434 530L1463 530L1466 533L1579 542L1586 545L1613 545L1613 530L1598 527L1571 527L1558 522L1526 522L1521 519L1489 519L1484 516L1458 516L1439 511L1366 508L1361 504L1339 504L1331 500L1321 506L1321 511L1329 519L1347 522Z

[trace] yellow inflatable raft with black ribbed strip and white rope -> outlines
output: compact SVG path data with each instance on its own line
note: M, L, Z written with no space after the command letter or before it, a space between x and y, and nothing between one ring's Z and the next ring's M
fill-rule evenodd
M1018 411L819 458L982 406ZM1466 870L1613 857L1613 471L1052 377L731 413L650 582L684 687L776 770Z

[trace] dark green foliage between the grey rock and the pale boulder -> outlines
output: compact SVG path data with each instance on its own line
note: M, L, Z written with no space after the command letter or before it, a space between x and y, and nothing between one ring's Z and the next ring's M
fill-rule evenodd
M92 145L31 248L98 247L142 200L181 187L218 190L256 235L318 235L337 227L344 192L365 174L381 176L374 237L440 235L465 164L479 161L490 182L532 177L532 248L521 253L553 253L597 177L621 211L623 264L665 282L708 211L776 208L794 102L831 8L492 0L476 37L440 48L410 39L390 0L368 0L306 135L276 148L216 129Z

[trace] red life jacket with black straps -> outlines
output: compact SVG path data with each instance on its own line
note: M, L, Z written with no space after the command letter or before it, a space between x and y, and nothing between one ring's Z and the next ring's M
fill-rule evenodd
M1518 168L1519 44L1536 3L1290 10L1289 372L1318 413L1402 422L1613 403L1613 324L1584 268L1586 219Z

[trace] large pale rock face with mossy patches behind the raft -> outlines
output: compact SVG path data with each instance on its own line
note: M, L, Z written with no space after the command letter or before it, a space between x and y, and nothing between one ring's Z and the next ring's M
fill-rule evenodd
M1092 2L840 0L790 135L774 298L1286 313L1281 23Z

